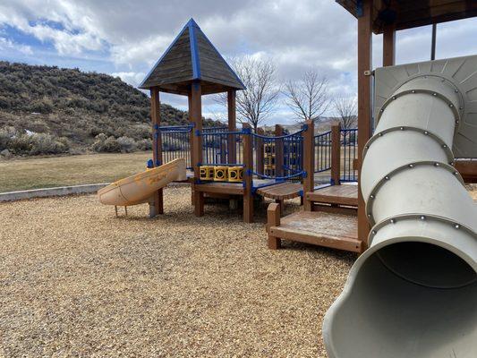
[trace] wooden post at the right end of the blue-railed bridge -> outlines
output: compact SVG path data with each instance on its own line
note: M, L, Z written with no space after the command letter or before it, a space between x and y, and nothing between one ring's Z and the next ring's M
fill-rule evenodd
M313 121L306 121L307 129L303 136L303 170L306 177L303 179L303 209L311 211L311 201L306 200L307 192L313 192L315 188L315 124Z

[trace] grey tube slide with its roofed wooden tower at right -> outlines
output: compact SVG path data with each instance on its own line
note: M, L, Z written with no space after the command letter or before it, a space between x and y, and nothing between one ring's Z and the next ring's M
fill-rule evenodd
M464 181L477 173L477 55L396 66L394 53L396 30L472 17L477 4L338 3L358 18L358 236L369 249L325 317L328 355L473 357L477 208ZM374 73L371 31L384 32Z

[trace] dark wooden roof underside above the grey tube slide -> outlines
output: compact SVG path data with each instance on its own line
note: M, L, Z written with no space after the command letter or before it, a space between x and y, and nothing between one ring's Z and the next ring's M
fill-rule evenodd
M395 30L477 16L475 0L371 0L373 6L372 31L382 33L385 25ZM362 0L336 0L354 17L362 13Z

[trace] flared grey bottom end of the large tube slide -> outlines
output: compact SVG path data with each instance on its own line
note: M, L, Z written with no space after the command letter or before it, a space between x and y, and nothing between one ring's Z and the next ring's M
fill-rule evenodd
M413 250L432 251L436 260L445 260L443 268L438 268L439 263L433 260L419 262L418 256L410 258L408 252ZM457 269L464 275L475 276L465 262L453 255L427 243L396 243L363 258L354 268L351 291L334 311L328 326L330 357L473 357L473 343L477 339L477 281L459 286L464 281L450 281L447 277L438 283L459 287L443 289L409 279L414 268L424 269L423 278L428 285L438 281L429 275L433 269L440 273ZM402 268L408 264L414 268ZM446 268L447 264L453 266ZM393 270L397 269L397 273L388 265L396 265ZM415 275L411 278L423 279Z

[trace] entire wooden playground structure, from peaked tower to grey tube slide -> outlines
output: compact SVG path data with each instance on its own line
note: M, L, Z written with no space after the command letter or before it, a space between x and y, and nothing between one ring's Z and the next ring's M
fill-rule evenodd
M477 56L399 66L394 57L396 30L471 17L477 4L338 3L358 18L359 131L316 134L310 121L294 133L277 126L273 136L237 129L243 83L191 20L141 84L151 93L154 166L183 158L196 216L206 195L242 198L245 222L254 197L276 200L270 249L292 240L362 253L326 316L330 357L471 357L477 213L463 184L477 181ZM384 33L385 67L376 72L373 30ZM188 96L190 124L160 125L159 91ZM202 128L201 96L220 92L228 125ZM317 185L328 171L329 183ZM161 188L150 216L163 212ZM284 200L298 196L303 210L280 217Z

